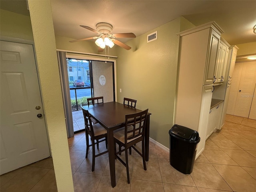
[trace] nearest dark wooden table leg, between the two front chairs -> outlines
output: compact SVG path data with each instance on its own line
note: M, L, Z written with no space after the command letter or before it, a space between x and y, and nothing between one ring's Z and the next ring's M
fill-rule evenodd
M115 169L115 149L114 149L114 135L113 130L108 129L108 158L110 168L111 186L116 186L116 169Z

